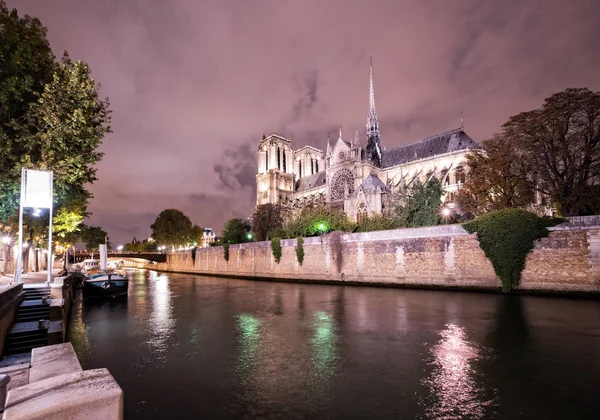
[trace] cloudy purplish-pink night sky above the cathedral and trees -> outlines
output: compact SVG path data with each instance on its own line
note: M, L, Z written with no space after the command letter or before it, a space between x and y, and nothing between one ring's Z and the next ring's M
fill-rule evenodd
M57 56L90 64L113 131L92 224L145 238L164 208L220 231L255 203L256 145L325 148L364 128L369 54L382 144L460 124L477 141L566 87L600 90L600 2L7 0Z

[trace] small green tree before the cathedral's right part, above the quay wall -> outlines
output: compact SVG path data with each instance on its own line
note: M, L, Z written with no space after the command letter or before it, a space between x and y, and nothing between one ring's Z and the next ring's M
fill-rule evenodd
M406 206L399 206L396 210L400 223L407 227L439 224L442 192L442 184L437 178L425 184L416 183Z

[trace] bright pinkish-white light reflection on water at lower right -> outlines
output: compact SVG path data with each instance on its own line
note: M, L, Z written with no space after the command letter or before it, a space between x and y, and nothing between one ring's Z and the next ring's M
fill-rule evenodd
M491 399L476 379L474 362L480 350L467 340L464 328L446 324L440 340L431 349L433 371L424 380L430 398L425 415L435 419L482 419Z

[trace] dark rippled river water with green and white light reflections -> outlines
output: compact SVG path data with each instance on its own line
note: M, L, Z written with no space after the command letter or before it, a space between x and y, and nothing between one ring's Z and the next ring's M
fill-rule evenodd
M126 419L598 419L600 302L132 272L70 339Z

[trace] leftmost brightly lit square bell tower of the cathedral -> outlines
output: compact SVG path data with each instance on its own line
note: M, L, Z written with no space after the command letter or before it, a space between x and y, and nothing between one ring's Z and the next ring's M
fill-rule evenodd
M285 137L263 134L257 150L256 205L284 204L294 193L294 151Z

